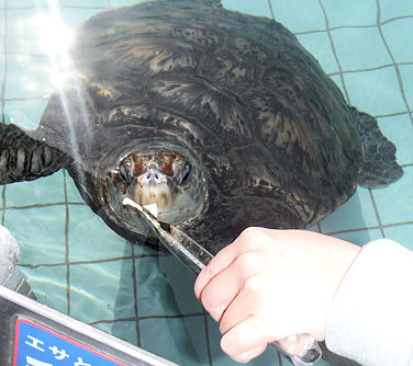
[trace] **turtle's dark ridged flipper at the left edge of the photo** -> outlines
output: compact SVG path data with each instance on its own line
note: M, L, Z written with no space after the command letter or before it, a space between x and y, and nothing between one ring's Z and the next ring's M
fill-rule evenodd
M0 124L0 184L33 181L68 162L65 153L30 137L15 125Z

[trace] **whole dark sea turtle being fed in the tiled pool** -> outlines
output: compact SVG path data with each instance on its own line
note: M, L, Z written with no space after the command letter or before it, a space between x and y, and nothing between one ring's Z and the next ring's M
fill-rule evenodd
M219 0L148 0L86 21L37 129L0 126L0 182L67 169L86 203L143 242L129 196L212 253L244 228L303 228L357 184L403 171L286 27Z

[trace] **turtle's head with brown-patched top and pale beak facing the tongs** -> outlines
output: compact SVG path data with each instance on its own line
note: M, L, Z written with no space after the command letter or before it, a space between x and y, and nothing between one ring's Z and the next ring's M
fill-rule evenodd
M205 202L199 165L179 150L149 147L131 152L119 161L115 174L127 197L142 206L156 203L161 221L191 220Z

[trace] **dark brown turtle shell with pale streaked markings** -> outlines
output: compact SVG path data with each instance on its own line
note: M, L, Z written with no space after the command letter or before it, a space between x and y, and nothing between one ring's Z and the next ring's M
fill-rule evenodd
M206 247L253 225L312 225L356 190L355 114L272 20L149 1L89 19L70 55L76 73L36 134L92 175L139 141L178 141L208 184L205 209L182 228Z

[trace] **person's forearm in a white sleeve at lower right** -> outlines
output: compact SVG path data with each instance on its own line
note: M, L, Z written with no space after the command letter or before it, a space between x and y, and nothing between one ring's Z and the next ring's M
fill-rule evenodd
M413 365L413 252L390 240L364 247L335 296L327 347L362 365Z

